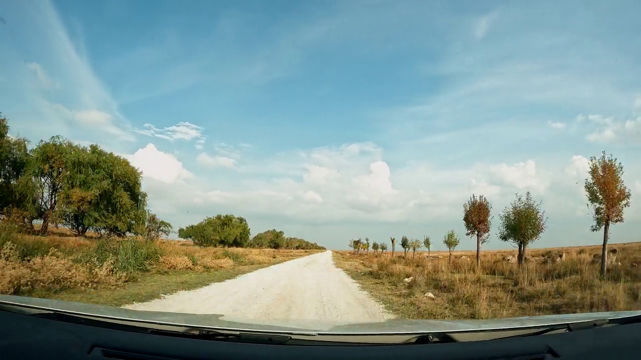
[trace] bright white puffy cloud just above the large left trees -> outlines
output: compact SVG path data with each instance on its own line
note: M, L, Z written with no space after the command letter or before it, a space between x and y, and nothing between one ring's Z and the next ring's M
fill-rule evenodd
M194 175L172 154L162 152L148 143L131 155L125 155L131 164L142 171L143 179L154 179L165 184L181 183Z

